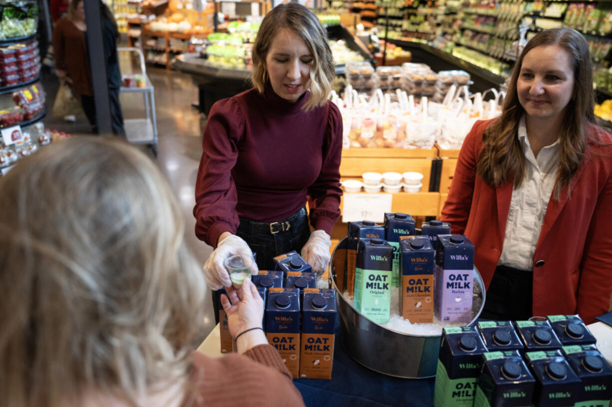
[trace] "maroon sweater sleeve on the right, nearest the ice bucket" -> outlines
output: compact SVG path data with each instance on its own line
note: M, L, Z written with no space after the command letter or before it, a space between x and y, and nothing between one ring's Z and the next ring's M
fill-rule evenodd
M308 187L310 224L315 230L332 234L340 218L340 160L342 156L342 116L338 106L328 104L327 127L323 142L323 161L316 181Z

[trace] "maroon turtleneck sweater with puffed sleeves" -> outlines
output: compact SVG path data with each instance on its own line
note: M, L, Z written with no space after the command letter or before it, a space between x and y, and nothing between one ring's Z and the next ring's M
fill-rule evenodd
M310 224L331 235L340 217L342 117L334 103L302 110L250 89L212 106L195 186L195 234L213 247L239 217L277 222L311 198Z

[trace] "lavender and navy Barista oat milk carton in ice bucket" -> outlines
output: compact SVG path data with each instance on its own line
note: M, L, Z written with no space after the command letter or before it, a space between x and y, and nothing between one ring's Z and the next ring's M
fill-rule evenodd
M438 238L434 284L434 313L442 322L472 320L474 244L463 235Z

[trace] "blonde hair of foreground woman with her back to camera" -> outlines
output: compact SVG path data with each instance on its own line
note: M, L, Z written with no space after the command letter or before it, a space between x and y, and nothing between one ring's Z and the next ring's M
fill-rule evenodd
M136 405L184 379L205 285L151 160L70 138L0 178L0 405Z

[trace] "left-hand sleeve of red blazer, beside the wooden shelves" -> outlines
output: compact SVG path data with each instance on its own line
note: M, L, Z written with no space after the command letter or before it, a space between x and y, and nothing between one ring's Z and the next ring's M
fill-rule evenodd
M474 182L476 181L476 163L479 156L479 145L485 122L481 120L474 123L472 130L463 141L457 168L450 184L449 196L442 208L442 221L450 222L452 233L463 234L468 224L469 210L474 195Z

